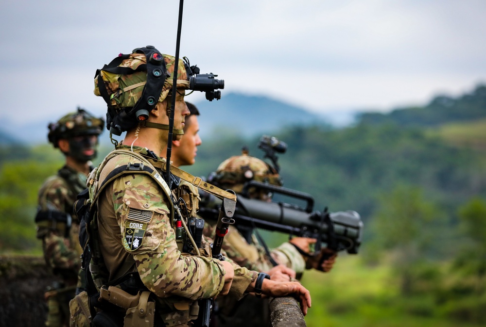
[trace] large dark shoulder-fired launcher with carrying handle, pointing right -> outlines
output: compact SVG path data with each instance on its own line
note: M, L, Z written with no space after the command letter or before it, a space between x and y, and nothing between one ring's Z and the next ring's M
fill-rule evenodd
M268 192L275 192L300 201L307 202L306 207L286 202L266 202L251 199L244 194L250 187ZM346 250L350 254L358 253L361 245L363 222L355 211L340 211L330 213L327 208L323 212L314 211L314 199L311 195L277 185L251 180L243 187L243 195L237 196L236 212L233 215L235 226L243 231L247 238L248 231L254 228L288 233L294 236L317 239L315 253L322 244L331 250ZM207 221L215 221L218 216L221 200L200 192L199 215ZM246 231L246 235L245 235ZM248 240L248 238L247 238Z

